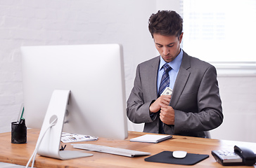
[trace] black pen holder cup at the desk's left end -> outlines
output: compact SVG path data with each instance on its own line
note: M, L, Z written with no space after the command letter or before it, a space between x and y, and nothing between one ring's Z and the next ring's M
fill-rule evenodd
M25 120L23 123L11 123L11 143L26 144L27 143L27 127Z

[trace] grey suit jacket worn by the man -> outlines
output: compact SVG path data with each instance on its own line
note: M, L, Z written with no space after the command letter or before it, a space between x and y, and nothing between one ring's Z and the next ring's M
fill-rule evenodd
M127 116L133 123L145 123L143 132L159 132L159 114L151 118L149 106L158 98L157 77L160 56L137 66L134 87L127 100ZM175 111L174 125L164 125L166 134L205 137L204 131L222 124L215 66L184 52L169 106Z

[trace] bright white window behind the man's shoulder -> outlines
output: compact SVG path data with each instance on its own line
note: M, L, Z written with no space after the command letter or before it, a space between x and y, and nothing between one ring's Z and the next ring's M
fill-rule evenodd
M185 52L207 62L250 63L255 69L255 0L181 0L181 6Z

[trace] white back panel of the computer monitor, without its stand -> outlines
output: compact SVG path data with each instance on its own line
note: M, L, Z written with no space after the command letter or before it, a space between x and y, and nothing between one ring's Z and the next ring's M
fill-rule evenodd
M63 132L127 137L122 45L21 48L24 118L40 129L53 90L70 90Z

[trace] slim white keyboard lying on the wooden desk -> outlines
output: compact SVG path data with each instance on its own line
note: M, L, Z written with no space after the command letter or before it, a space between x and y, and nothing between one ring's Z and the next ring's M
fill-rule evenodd
M89 151L96 151L101 153L110 153L114 155L122 155L127 157L141 156L141 155L151 155L151 153L132 151L124 148L114 148L110 146L99 146L95 144L71 144L73 148L79 148Z

